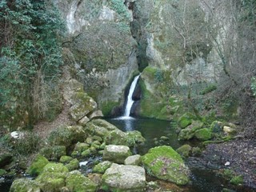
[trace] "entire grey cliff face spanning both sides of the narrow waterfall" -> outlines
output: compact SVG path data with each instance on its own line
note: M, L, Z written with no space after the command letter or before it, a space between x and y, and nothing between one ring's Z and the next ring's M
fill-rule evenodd
M235 85L240 81L231 73L239 69L238 44L245 43L238 42L238 2L54 2L67 26L66 63L104 114L122 106L125 87L138 70L142 99L136 113L153 118L183 113L184 98L202 102L193 104L198 110L213 108L213 97L206 94L223 79ZM238 103L230 114L237 112Z

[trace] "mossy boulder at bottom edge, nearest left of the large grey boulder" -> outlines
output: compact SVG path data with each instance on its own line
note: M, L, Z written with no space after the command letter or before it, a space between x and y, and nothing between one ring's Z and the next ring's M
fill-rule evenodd
M82 175L78 170L71 171L66 177L66 187L70 191L76 192L95 192L97 190L97 185Z

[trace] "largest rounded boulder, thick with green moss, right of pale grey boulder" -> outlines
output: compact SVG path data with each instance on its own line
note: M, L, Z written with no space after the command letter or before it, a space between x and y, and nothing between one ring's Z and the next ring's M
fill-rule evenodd
M142 163L148 174L174 182L178 185L186 185L189 182L189 169L184 164L182 157L170 146L157 146L142 156Z

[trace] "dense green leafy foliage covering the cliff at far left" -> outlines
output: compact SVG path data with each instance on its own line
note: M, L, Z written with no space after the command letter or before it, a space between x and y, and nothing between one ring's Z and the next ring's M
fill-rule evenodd
M48 0L2 0L0 28L0 124L51 118L60 100L64 25L58 10Z

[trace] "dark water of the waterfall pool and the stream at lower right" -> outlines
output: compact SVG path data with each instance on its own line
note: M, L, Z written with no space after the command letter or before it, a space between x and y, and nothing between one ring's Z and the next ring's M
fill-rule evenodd
M146 138L144 146L138 147L138 154L146 154L146 152L156 146L154 143L155 138L166 136L170 138L169 141L161 143L163 145L172 146L174 150L178 149L184 143L178 141L177 134L172 122L162 121L152 118L111 118L106 121L114 124L118 129L123 131L138 130L142 133L142 136ZM224 188L232 189L234 186L230 186L224 181L218 174L215 174L213 170L198 169L190 167L191 169L191 184L186 187L186 191L190 192L221 192ZM238 188L230 191L254 191L246 188Z

